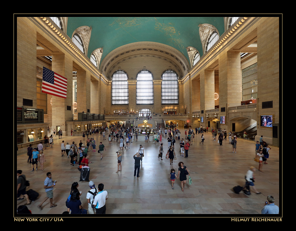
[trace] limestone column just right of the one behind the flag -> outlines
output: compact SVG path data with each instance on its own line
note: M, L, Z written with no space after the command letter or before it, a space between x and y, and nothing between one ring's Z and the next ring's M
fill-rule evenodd
M90 73L77 71L77 113L90 111Z

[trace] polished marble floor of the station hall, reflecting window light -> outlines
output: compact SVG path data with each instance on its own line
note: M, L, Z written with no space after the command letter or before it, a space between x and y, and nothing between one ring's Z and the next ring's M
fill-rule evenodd
M184 134L184 129L180 129ZM181 138L185 138L182 135ZM179 144L176 143L177 160L170 165L170 161L158 158L160 142L153 144L152 137L150 143L135 142L130 144L130 149L125 149L122 157L122 171L117 171L117 155L119 144L116 141L108 145L108 141L103 141L103 136L95 135L97 147L102 141L107 151L104 152L103 159L97 152L89 152L90 177L96 187L99 183L105 185L104 190L108 192L106 201L106 213L110 216L114 214L152 214L149 216L159 216L156 214L195 214L191 216L211 216L210 214L261 214L261 209L268 195L273 195L275 204L280 207L282 201L279 190L282 188L279 179L279 152L282 149L271 147L269 151L268 164L263 165L263 172L256 171L254 174L255 187L262 194L257 195L252 192L251 195L244 193L235 194L231 189L234 186L245 183L245 174L250 166L258 167L254 161L255 141L237 140L237 153L232 153L232 145L228 140L223 141L220 146L217 141L213 141L210 132L205 133L204 145L200 144L200 134L195 135L195 141L192 142L188 152L188 158L180 157ZM27 155L17 156L17 169L23 171L27 180L30 181L30 188L37 191L39 198L28 205L33 214L61 214L67 211L65 201L70 193L73 182L79 183L79 189L82 191L80 200L82 206L87 209L86 193L89 190L88 182L79 182L80 172L77 165L70 165L70 158L61 157L60 144L62 140L65 144L72 141L77 146L82 140L78 136L64 136L59 139L54 137L54 147L47 147L44 150L46 162L44 170L31 171L31 164L27 163ZM163 146L167 147L167 140L162 138ZM178 141L177 141L178 142ZM86 144L85 141L83 141ZM133 155L138 152L139 145L142 144L145 150L145 157L140 167L140 177L134 177L134 158ZM192 184L184 187L181 191L179 179L175 180L174 189L171 186L170 171L174 168L178 174L178 163L182 161L190 172ZM39 167L40 169L40 167ZM37 205L46 197L43 183L46 173L51 172L52 179L57 180L54 188L53 203L57 207L50 208L49 200L43 204L43 210L40 211ZM17 206L25 204L26 200L17 201ZM147 215L148 216L148 215ZM162 215L166 216L166 215ZM169 215L171 216L171 215ZM217 216L217 215L216 215ZM229 215L228 215L229 216ZM246 216L246 215L243 215ZM252 215L254 216L254 215Z

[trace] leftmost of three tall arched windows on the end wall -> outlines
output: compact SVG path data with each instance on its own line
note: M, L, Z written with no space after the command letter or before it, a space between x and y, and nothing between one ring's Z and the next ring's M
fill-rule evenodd
M128 75L124 70L117 70L112 75L111 105L129 104Z

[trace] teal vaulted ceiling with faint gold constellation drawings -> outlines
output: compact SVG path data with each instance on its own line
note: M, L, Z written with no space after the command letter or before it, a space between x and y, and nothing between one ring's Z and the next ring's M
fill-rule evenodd
M223 17L69 17L67 34L82 26L92 27L88 58L103 47L102 59L114 49L135 42L157 42L171 46L189 61L186 47L196 48L203 55L199 24L212 24L224 33Z

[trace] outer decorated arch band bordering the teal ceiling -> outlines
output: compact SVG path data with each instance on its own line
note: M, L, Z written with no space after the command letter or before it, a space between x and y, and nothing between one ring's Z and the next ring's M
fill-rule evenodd
M190 69L187 58L177 49L161 43L136 42L136 43L131 43L131 44L121 46L113 50L112 52L110 52L102 61L101 72L106 70L105 68L107 67L108 63L112 59L116 59L120 55L124 55L124 53L135 52L135 51L146 51L146 52L150 51L150 52L154 52L154 55L155 55L155 52L165 53L167 55L170 55L173 58L175 57L176 60L180 62L180 65L182 65L182 69L185 68L184 69L185 72L188 72L188 70Z

